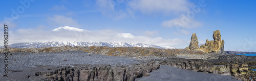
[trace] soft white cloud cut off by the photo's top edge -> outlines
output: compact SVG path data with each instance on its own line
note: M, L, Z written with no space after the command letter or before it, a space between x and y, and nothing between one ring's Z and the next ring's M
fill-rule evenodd
M186 0L132 0L128 5L144 14L160 12L167 15L186 12L191 4Z

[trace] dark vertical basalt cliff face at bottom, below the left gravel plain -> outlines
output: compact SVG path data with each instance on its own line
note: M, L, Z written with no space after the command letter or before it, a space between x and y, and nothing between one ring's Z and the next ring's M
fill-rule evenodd
M54 67L54 68L53 68ZM135 80L149 76L153 70L160 67L155 61L130 65L91 65L78 64L70 66L38 67L31 80ZM43 78L42 78L43 76Z

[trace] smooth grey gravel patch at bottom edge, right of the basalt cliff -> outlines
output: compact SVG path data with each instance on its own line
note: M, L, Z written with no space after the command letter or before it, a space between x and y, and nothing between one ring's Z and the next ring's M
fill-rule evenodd
M165 81L165 80L204 80L204 81L217 81L217 80L234 80L233 76L224 76L218 74L210 74L203 72L195 72L185 69L179 69L168 65L161 65L159 69L150 73L150 76L143 76L135 80L143 81Z

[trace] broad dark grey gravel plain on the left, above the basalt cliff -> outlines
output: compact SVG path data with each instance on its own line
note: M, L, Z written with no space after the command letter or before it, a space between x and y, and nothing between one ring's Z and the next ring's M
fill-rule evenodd
M35 65L68 65L70 64L130 64L139 63L136 58L116 57L92 54L83 51L63 51L53 53L11 53L8 56L9 70L26 70ZM0 53L0 66L4 68L4 54ZM0 70L0 74L4 69Z

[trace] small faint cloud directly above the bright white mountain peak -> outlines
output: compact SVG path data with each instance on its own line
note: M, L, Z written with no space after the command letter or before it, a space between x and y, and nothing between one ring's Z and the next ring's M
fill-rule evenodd
M78 22L71 17L66 17L63 15L55 15L53 17L48 17L48 22L53 26L72 26L72 27L81 27Z

